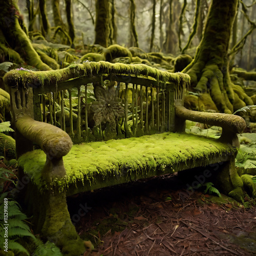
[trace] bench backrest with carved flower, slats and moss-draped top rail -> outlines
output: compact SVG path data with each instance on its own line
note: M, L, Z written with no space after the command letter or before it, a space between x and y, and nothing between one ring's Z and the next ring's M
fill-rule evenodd
M12 114L49 122L74 142L175 132L175 104L190 78L146 65L83 62L54 71L12 70Z

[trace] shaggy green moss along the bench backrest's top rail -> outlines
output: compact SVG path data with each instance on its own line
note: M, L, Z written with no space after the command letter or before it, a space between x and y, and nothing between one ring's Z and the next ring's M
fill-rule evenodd
M125 48L124 48L125 49ZM126 50L126 49L125 49ZM52 87L56 89L56 83L79 77L94 77L98 74L137 75L138 77L152 77L153 80L162 82L182 83L187 87L190 77L182 73L169 73L144 64L125 65L123 63L112 64L106 61L83 62L70 65L61 70L51 71L24 71L13 70L8 72L4 81L8 86L34 86L35 88Z

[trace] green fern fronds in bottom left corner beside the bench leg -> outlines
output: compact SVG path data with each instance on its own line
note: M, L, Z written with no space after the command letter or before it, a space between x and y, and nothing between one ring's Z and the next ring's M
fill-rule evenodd
M62 255L53 243L42 243L31 232L28 217L20 205L11 197L10 191L15 187L15 168L17 161L0 160L0 255ZM5 243L6 242L6 243ZM5 243L5 244L4 244ZM5 247L6 246L6 247Z

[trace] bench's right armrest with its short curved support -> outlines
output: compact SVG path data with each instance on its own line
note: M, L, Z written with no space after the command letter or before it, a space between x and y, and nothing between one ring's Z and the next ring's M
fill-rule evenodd
M245 120L236 115L222 113L207 113L192 111L182 105L175 106L176 116L183 120L191 120L222 127L221 140L239 147L237 133L242 133L246 127Z

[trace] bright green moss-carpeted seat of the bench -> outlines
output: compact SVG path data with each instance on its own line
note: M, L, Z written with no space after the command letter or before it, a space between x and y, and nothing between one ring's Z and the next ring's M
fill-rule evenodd
M186 133L167 132L75 144L63 157L67 175L59 187L66 190L67 195L73 195L216 163L222 154L232 155L234 148L217 139ZM43 190L46 182L41 170L46 162L45 153L42 150L27 152L18 161L38 189Z

